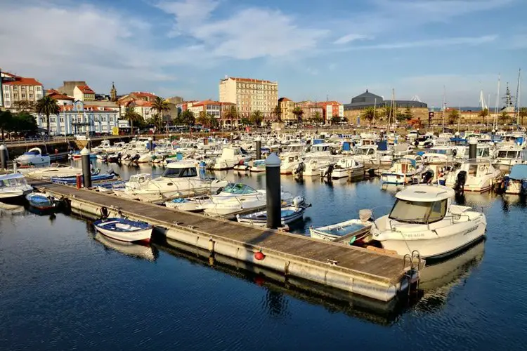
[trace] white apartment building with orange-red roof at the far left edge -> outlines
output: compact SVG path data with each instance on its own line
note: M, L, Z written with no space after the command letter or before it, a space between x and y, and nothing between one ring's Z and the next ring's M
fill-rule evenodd
M6 109L13 109L17 101L37 102L44 96L44 88L37 79L0 72L0 81L2 105Z

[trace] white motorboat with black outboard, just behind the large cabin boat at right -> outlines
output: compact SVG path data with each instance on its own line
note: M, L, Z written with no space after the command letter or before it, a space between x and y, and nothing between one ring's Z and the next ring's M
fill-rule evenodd
M485 192L493 187L500 174L488 159L469 159L457 171L448 173L445 185L457 192Z

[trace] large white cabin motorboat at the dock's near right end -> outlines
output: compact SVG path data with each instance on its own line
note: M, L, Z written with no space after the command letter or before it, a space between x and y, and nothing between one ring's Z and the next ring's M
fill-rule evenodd
M485 234L486 218L453 204L454 190L442 185L412 185L396 194L391 212L375 220L372 238L399 255L448 256Z

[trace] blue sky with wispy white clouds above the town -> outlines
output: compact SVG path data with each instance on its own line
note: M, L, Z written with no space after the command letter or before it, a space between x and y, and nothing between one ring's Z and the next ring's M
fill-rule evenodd
M293 100L393 88L439 106L445 86L447 105L483 89L493 106L498 74L516 93L527 58L525 0L4 1L0 67L46 88L217 100L228 75L278 80Z

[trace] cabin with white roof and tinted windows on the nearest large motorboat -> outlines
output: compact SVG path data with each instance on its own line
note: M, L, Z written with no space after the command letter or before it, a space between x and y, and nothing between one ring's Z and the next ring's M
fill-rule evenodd
M438 222L447 215L454 196L453 189L442 185L413 185L396 194L396 203L388 218L401 223Z

